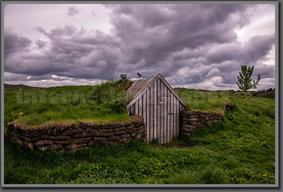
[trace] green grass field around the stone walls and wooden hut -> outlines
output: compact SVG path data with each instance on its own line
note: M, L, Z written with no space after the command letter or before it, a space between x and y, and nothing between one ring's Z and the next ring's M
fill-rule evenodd
M49 95L70 90L88 95L91 86L48 88ZM47 89L47 90L48 90ZM38 97L46 89L39 91ZM75 91L76 90L76 91ZM41 92L43 91L43 92ZM274 184L275 183L275 100L243 96L236 91L176 89L189 110L223 112L225 102L236 109L207 128L197 129L189 138L175 138L159 145L134 141L124 145L94 147L76 152L31 152L4 140L5 184ZM21 91L4 93L4 124L13 120L12 112L23 112L25 123L51 120L122 120L111 106L70 100L66 104L17 103ZM67 95L67 94L63 94ZM22 98L22 97L20 97ZM28 98L28 97L27 97ZM40 98L39 98L40 99ZM68 100L67 100L68 101ZM30 102L30 103L28 103ZM96 105L96 106L95 106ZM100 111L96 111L100 106ZM106 110L105 110L106 109ZM108 111L107 111L108 109ZM99 113L98 113L99 112ZM50 113L48 115L48 113ZM39 115L35 115L39 114ZM64 114L66 116L64 116ZM94 115L95 114L95 115ZM104 117L108 115L108 117ZM111 114L114 116L110 118ZM29 116L31 115L31 116ZM117 116L116 116L117 115ZM121 116L119 116L121 115ZM96 116L95 116L96 117ZM98 118L97 117L97 118ZM98 118L99 119L99 118ZM176 147L182 144L182 147Z

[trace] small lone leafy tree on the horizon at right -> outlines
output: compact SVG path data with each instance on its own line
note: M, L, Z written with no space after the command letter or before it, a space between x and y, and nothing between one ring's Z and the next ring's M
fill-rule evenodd
M256 81L251 79L251 76L253 74L253 69L254 69L254 66L247 68L246 65L242 65L241 72L239 72L240 76L237 76L238 82L236 83L239 89L245 92L245 96L246 96L247 90L251 88L255 89L256 85L259 83L259 80L260 80L260 75L258 75ZM253 83L251 81L253 81Z

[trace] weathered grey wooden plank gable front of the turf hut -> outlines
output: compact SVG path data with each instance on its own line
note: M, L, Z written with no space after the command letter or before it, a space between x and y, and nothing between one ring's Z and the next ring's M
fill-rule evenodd
M145 80L140 81L142 87L128 103L128 113L143 116L147 142L158 139L161 144L168 143L180 133L186 103L161 74ZM139 80L132 86L139 86L138 83Z

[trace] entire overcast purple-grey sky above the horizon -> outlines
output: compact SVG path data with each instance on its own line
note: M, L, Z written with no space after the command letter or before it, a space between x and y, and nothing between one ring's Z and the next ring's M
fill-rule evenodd
M95 84L114 74L235 89L241 65L275 87L274 4L5 4L4 82Z

